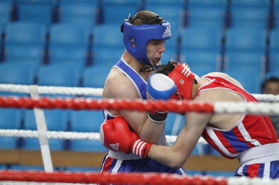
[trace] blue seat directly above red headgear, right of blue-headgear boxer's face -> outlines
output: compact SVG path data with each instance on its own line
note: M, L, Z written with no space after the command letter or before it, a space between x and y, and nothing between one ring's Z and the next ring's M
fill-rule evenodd
M206 29L206 31L205 31ZM189 63L193 72L216 71L220 55L222 31L212 26L188 26L181 33L180 61ZM200 73L202 74L202 73Z

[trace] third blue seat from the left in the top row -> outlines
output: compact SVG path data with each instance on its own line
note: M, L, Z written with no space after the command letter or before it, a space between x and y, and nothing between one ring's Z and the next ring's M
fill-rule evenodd
M98 1L61 0L60 22L95 25Z

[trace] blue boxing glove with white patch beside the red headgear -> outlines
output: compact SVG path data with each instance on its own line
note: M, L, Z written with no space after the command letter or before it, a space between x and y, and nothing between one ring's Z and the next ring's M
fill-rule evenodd
M154 73L148 79L146 97L153 101L167 100L176 93L176 90L176 84L172 79L165 74ZM148 116L154 122L164 122L167 118L167 112L149 112Z

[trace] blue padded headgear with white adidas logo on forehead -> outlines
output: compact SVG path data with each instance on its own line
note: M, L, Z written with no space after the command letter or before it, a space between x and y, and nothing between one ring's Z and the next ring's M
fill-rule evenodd
M121 25L124 45L137 61L144 65L151 65L146 54L146 45L149 40L168 40L172 35L170 24L163 21L158 15L152 18L151 24L149 23L150 19L142 19L142 25L133 25L135 19L140 19L140 17L135 16L125 19ZM131 38L133 38L133 41ZM156 68L156 65L153 67Z

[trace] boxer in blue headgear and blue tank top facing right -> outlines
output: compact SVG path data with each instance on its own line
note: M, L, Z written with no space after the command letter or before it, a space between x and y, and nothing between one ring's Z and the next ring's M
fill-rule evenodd
M107 75L103 98L147 99L147 80L160 65L160 59L165 52L165 40L171 37L168 22L156 13L143 10L129 17L121 26L123 43L126 49L121 59ZM111 34L111 33L108 33ZM170 59L170 58L169 58ZM154 81L156 83L156 81ZM161 89L163 92L168 91ZM152 96L153 101L158 97ZM163 112L137 112L126 110L105 109L105 122L114 122L116 127L125 124L131 131L135 131L142 140L158 145L168 145L163 131L167 113ZM102 124L104 127L108 124ZM102 164L100 172L168 172L179 175L184 174L183 169L174 169L164 166L152 159L140 159L135 154L123 154L121 145L114 143L115 139L122 137L115 134L105 139L100 127L100 138L105 146L111 146L110 151ZM113 127L111 128L113 129Z

